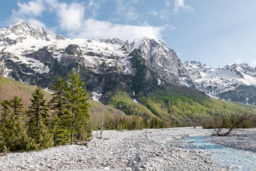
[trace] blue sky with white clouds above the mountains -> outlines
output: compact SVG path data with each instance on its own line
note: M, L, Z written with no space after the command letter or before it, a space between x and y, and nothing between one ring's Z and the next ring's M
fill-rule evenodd
M69 38L163 39L182 62L256 67L254 0L1 1L0 27L19 19Z

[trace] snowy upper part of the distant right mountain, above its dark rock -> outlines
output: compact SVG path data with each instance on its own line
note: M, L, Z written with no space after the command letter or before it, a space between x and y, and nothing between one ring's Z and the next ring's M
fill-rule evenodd
M236 90L241 85L256 87L256 77L252 76L256 75L256 72L252 72L253 68L250 74L247 74L238 64L215 69L196 61L186 61L184 67L197 89L211 97L219 98L219 94Z

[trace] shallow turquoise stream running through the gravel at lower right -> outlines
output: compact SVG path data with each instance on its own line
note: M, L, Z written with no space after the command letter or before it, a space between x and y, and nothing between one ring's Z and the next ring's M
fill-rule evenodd
M180 142L186 148L206 151L212 162L228 170L256 170L256 153L206 141L204 136L187 137ZM193 141L193 143L189 143Z

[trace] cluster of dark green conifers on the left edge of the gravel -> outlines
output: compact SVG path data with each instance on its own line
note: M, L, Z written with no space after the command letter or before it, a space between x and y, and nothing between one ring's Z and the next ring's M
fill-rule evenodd
M73 70L67 81L59 77L51 90L54 93L47 103L44 92L36 88L27 111L18 96L1 101L0 152L83 144L92 136L89 98L79 74Z

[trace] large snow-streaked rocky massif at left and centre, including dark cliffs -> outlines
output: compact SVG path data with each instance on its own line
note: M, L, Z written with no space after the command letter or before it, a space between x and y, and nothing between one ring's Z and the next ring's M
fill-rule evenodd
M73 68L97 95L113 87L138 88L138 76L148 86L172 81L195 87L176 53L162 40L143 37L129 44L118 38L69 39L23 20L0 29L0 74L48 88Z

